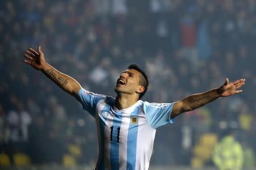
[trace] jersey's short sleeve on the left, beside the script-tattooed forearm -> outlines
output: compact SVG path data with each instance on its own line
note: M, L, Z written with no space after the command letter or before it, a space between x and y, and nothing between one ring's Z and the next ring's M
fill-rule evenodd
M84 88L81 88L78 97L80 103L82 104L82 108L88 111L93 117L95 117L98 101L105 99L106 96L94 94L93 92L89 92Z

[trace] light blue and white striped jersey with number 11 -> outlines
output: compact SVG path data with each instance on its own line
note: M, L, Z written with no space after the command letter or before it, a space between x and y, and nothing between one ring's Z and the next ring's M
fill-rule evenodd
M172 123L174 103L148 103L138 100L118 110L115 99L81 88L82 107L96 120L99 155L96 169L148 169L155 131Z

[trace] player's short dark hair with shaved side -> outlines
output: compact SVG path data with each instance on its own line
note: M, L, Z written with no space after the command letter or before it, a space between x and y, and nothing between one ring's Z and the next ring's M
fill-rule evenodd
M131 64L130 66L127 67L127 69L134 69L139 71L139 73L141 73L141 76L139 78L139 85L144 87L144 91L141 94L139 94L139 99L141 99L141 97L144 96L144 94L146 93L147 87L148 87L147 74L140 66L136 64Z

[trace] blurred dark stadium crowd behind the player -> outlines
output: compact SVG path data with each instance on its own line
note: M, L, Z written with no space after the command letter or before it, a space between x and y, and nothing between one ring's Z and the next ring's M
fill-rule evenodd
M255 153L255 0L1 1L0 20L0 152L61 163L76 145L78 163L97 160L93 117L22 63L24 51L40 45L48 63L97 94L115 96L119 73L131 63L148 73L142 99L149 102L169 103L225 78L245 78L242 94L159 128L151 163L188 165L201 134L221 137L229 128Z

